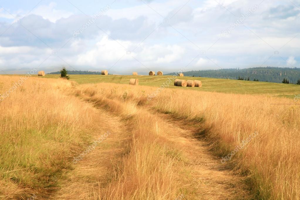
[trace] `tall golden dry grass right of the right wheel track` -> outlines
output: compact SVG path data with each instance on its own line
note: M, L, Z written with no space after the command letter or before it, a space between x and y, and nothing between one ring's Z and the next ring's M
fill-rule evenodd
M144 105L202 123L215 153L223 157L258 132L225 164L249 177L257 197L300 199L300 108L289 105L293 100L165 88L147 101L147 94L157 88L115 84L95 87L110 100L122 100L126 92L131 106ZM272 105L277 103L285 105Z

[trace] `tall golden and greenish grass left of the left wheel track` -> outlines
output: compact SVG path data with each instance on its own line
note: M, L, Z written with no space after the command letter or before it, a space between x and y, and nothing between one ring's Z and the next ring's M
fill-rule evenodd
M72 82L0 76L0 199L42 199L89 141L97 110L65 95ZM74 148L76 147L76 148ZM73 149L72 149L73 148Z

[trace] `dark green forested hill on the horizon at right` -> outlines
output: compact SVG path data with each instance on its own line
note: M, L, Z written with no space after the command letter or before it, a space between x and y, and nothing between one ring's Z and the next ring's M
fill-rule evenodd
M174 72L175 73L175 72ZM174 73L166 74L173 75ZM289 79L289 83L297 83L300 79L300 68L283 68L283 67L254 67L247 69L219 69L219 70L199 70L184 72L184 76L201 76L222 79L238 79L250 80L258 79L264 82L281 83L282 80Z

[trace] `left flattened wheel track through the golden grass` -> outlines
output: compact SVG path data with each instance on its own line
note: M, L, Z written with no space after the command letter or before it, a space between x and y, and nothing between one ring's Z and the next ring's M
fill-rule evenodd
M99 190L113 178L114 162L116 157L122 157L126 152L125 141L129 135L126 121L104 109L99 108L98 124L95 126L99 130L99 134L94 136L95 141L99 141L107 132L110 132L110 135L104 136L103 141L78 161L72 171L65 173L61 189L49 199L100 199Z

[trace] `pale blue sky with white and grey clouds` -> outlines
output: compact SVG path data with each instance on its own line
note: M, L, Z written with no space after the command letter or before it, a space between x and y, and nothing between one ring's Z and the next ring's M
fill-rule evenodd
M0 1L0 73L299 67L300 0Z

